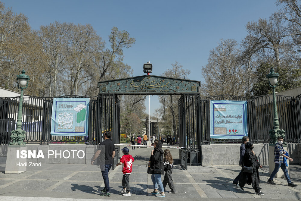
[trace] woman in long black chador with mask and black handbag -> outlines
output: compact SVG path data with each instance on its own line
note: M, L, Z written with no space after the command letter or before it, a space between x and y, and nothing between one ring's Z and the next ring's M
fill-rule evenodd
M244 185L252 184L253 189L255 189L256 195L264 195L264 193L260 191L261 188L259 187L260 179L259 179L258 168L262 168L262 166L259 164L257 156L255 152L252 150L253 148L254 146L252 142L249 141L245 144L246 151L242 163L244 171L240 176L237 187L240 190L244 191L243 189Z

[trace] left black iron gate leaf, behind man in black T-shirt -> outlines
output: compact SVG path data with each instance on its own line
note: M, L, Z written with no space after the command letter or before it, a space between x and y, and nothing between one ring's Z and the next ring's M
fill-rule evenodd
M98 96L99 104L99 132L96 136L97 141L101 142L101 133L110 131L112 133L112 141L114 144L119 144L120 133L120 102L117 95L100 94ZM98 122L96 122L97 124ZM115 157L113 158L114 169L119 159L119 146L115 146Z

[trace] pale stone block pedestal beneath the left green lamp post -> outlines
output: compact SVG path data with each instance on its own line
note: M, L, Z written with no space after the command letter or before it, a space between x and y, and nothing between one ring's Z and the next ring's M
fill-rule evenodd
M8 146L5 174L19 174L26 171L27 159L22 159L20 156L19 158L17 158L17 151L20 153L22 150L25 150L27 152L27 146Z

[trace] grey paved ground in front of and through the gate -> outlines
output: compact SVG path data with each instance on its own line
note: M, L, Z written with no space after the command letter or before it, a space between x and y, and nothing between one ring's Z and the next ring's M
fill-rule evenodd
M122 148L122 147L121 147ZM101 171L97 165L42 164L42 167L27 167L20 174L4 174L5 164L0 165L0 200L264 200L301 199L301 166L290 165L292 181L298 187L288 187L285 179L275 179L277 185L270 185L268 166L260 171L264 196L254 194L251 186L240 191L232 184L240 172L238 165L188 166L188 170L175 165L172 178L177 193L166 192L165 198L151 194L153 183L147 174L147 162L152 148L139 148L130 154L135 158L130 175L131 197L122 196L122 166L110 170L111 196L102 197L98 189L104 187ZM172 150L178 162L178 150ZM121 155L120 155L121 156ZM163 177L162 177L163 179ZM169 191L166 187L166 191Z

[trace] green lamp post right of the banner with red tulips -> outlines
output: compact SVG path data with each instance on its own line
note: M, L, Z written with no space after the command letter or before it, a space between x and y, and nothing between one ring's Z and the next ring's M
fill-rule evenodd
M275 94L275 88L277 87L277 78L279 77L278 73L274 72L274 69L271 68L270 73L266 75L266 77L268 78L268 82L270 84L270 87L273 88L273 109L274 109L274 122L273 122L273 126L274 129L271 129L269 131L269 135L270 135L270 143L271 144L276 144L277 143L277 138L278 137L283 137L283 139L285 138L285 131L279 129L279 119L278 119L278 113L277 113L277 104L276 104L276 94ZM283 142L283 144L285 144L285 142Z

